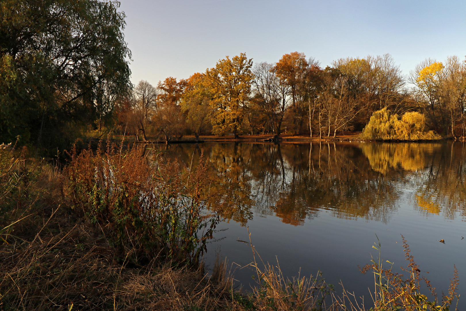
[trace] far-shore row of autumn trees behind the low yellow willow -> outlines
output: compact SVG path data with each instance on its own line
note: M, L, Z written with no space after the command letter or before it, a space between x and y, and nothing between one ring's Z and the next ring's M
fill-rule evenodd
M385 109L420 112L423 124L412 126L424 128L425 120L427 130L458 137L465 130L465 68L456 56L445 66L428 59L405 77L389 54L342 58L323 69L298 52L254 65L242 53L188 79L168 77L157 87L139 82L119 104L118 122L143 140L167 142L201 133L335 137L362 131Z

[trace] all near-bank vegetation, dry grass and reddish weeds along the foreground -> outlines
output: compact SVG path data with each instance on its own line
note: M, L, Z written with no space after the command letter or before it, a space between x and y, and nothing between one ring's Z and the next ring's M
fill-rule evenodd
M141 145L123 150L110 140L96 152L70 151L64 167L31 158L26 147L0 149L1 310L454 307L456 268L449 292L437 297L404 239L406 276L386 269L380 254L362 269L376 284L365 306L343 287L352 284L334 286L319 273L287 279L279 263L262 262L251 240L242 242L251 247L257 286L233 288L226 260L218 255L210 271L201 260L221 221L205 163L192 171L162 158L149 164ZM421 293L423 283L432 296Z

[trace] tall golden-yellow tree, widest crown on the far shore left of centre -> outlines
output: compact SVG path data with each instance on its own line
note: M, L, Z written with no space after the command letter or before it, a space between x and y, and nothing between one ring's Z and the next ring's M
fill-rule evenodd
M215 68L206 70L207 86L212 92L214 134L233 132L235 138L239 136L254 78L252 65L253 60L241 53L232 59L226 56Z

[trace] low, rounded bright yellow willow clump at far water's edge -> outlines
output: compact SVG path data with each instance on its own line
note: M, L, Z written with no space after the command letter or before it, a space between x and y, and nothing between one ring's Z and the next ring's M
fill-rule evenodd
M387 108L375 111L361 134L363 139L374 140L434 140L440 135L425 131L425 117L419 112L406 112L401 119L390 115Z

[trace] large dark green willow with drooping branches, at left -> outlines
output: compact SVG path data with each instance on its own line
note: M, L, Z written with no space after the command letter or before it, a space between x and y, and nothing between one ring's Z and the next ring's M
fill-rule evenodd
M130 89L117 1L0 0L0 139L57 145Z

